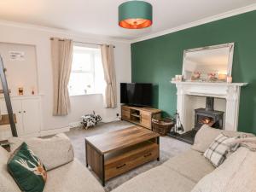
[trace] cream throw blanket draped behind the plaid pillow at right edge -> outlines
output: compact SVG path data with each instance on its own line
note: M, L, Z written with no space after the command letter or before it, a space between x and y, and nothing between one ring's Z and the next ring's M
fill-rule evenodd
M251 151L256 151L256 137L241 137L235 139L233 142L228 143L231 151L236 151L238 147L245 147Z

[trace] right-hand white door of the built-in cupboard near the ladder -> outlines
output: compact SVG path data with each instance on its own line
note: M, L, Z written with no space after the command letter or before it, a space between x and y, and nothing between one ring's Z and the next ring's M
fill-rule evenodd
M22 114L24 134L32 134L40 131L38 99L23 99Z

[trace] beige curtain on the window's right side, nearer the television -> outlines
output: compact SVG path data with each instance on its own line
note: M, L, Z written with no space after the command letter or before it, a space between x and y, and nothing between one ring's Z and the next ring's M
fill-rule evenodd
M115 79L115 68L113 60L113 45L101 45L102 51L102 65L104 71L104 79L106 81L105 90L105 104L106 108L117 107L117 92L116 92L116 79Z

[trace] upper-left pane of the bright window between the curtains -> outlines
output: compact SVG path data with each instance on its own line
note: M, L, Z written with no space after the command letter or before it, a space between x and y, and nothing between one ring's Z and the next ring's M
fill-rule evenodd
M72 71L90 71L91 70L91 58L90 53L73 53Z

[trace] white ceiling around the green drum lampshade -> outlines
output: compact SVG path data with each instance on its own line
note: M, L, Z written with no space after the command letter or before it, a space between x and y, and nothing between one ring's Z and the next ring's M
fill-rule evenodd
M256 0L147 0L153 26L127 30L118 26L118 6L124 0L1 0L0 19L49 26L112 38L135 39L219 15Z

